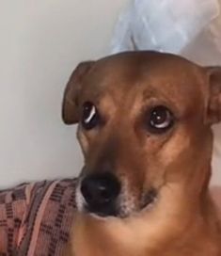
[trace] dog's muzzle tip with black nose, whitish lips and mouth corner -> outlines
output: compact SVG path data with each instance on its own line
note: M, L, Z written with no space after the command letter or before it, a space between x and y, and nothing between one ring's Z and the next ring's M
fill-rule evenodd
M157 190L150 188L134 197L130 186L120 183L113 173L99 172L87 174L79 181L76 202L79 211L124 218L150 209L157 196Z

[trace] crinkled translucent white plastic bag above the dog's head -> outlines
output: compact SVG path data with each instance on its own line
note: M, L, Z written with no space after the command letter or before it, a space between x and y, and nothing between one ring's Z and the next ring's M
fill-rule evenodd
M218 14L217 0L134 0L119 17L112 53L181 53Z

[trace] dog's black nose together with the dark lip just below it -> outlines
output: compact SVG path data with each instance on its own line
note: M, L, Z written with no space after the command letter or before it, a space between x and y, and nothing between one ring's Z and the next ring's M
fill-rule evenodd
M115 201L119 191L118 179L110 172L91 174L81 184L88 211L102 216L115 214Z

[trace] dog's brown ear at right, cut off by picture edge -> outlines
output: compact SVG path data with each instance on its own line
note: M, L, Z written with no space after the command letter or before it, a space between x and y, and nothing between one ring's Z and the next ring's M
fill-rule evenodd
M207 72L210 88L206 121L213 124L221 121L221 67L209 67Z

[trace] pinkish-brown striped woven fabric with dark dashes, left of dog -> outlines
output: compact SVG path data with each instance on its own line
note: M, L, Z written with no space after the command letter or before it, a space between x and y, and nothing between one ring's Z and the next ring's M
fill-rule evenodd
M69 179L0 191L0 256L64 255L75 185Z

